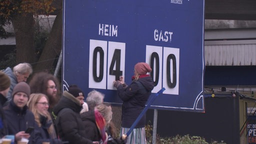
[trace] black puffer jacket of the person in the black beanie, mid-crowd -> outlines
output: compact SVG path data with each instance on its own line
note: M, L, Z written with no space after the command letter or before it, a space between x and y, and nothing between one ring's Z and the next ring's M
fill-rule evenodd
M63 142L92 144L91 140L84 137L85 129L79 114L81 107L79 100L67 91L63 92L63 96L54 107L53 112L57 115L57 133Z

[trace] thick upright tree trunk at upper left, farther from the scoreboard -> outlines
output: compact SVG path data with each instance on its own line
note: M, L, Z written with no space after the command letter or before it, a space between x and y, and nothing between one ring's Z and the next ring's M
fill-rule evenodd
M16 63L35 62L33 15L17 14L11 22L15 31Z

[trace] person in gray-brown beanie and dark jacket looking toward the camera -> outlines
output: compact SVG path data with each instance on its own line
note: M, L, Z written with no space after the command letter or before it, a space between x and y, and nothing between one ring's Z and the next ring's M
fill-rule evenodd
M15 143L21 138L27 138L28 143L36 143L36 132L25 133L28 127L38 127L34 115L27 108L30 95L30 87L26 82L19 82L12 91L12 99L8 105L3 107L6 118L8 135L14 135ZM38 134L38 133L37 133Z

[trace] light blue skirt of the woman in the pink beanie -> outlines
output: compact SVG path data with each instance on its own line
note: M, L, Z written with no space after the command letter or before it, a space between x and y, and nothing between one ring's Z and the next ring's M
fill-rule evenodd
M121 127L120 135L127 133L129 128ZM126 144L146 144L145 127L134 128L128 138Z

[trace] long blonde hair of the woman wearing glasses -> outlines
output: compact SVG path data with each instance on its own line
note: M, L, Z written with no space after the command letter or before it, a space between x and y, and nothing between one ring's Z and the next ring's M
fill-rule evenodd
M38 124L39 127L41 127L41 122L40 122L40 115L43 115L45 117L47 117L47 120L51 120L51 116L50 113L47 111L47 113L42 113L40 112L37 108L36 108L36 103L41 99L41 97L45 97L48 100L48 97L43 94L43 93L32 93L29 96L29 100L27 102L27 106L29 108L30 111L32 111L32 113L34 114L34 120L35 122ZM50 127L47 129L49 135L51 135L51 138L55 138L56 134L55 134L55 129L53 126L53 123L50 125Z

